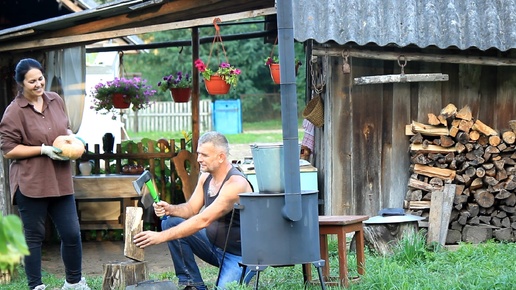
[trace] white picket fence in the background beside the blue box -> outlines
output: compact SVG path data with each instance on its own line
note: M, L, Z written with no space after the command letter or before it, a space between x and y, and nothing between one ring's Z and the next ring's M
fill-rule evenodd
M136 114L127 110L125 126L134 132L180 132L192 131L192 102L156 102ZM212 102L199 102L199 129L201 132L212 130Z

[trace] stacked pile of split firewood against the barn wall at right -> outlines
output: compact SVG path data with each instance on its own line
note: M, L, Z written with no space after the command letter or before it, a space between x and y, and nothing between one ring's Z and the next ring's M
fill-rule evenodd
M516 121L514 122L516 123ZM509 124L509 127L516 124ZM514 241L516 233L516 134L475 120L469 106L449 104L428 124L407 125L410 169L404 207L429 215L432 194L456 184L447 244Z

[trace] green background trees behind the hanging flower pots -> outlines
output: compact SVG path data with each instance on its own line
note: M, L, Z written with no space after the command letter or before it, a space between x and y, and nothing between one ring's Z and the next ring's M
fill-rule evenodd
M261 20L263 18L246 19L245 21ZM263 31L262 23L245 25L221 26L222 35L238 35ZM213 27L199 29L200 37L213 39L215 30ZM139 35L146 43L160 43L171 40L190 40L191 30L180 29ZM210 57L212 42L201 44L199 57L207 60ZM242 115L245 121L260 121L281 116L281 102L279 97L280 86L271 80L269 68L263 65L263 60L271 53L273 45L264 44L263 38L225 41L224 47L228 61L238 67L242 72L238 78L238 86L233 87L227 95L210 96L202 87L201 99L237 99L242 100ZM298 59L304 59L305 53L302 43L294 44L295 55ZM210 63L225 62L223 52L217 49L212 52ZM138 73L149 80L149 83L157 84L164 75L173 71L193 71L194 59L192 47L167 47L148 50L148 53L126 54L124 67L127 72ZM300 71L296 77L297 107L299 115L305 105L306 76ZM156 100L170 101L167 92L158 90Z

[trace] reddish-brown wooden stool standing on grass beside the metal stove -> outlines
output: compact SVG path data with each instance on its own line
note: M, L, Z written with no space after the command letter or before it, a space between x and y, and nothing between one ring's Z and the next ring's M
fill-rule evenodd
M327 285L339 285L348 287L348 259L346 248L346 234L355 233L357 270L360 275L365 274L364 255L364 227L362 222L368 220L366 215L344 215L344 216L319 216L319 241L321 246L321 259L326 261L323 266L323 277ZM328 259L328 235L337 235L339 253L339 277L338 281L330 277L330 261ZM303 265L305 282L312 282L311 264ZM335 277L336 278L336 277Z

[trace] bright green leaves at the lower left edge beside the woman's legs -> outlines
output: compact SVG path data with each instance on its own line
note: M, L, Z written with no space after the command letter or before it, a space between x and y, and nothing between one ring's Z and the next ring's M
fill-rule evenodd
M0 270L12 272L29 254L29 248L23 235L20 218L16 215L0 215Z

